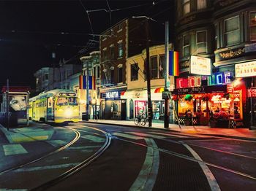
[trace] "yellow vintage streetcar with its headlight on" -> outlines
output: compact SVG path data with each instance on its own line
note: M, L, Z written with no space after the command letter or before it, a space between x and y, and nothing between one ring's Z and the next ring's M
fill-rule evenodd
M78 97L72 90L56 89L29 99L29 119L42 122L79 122Z

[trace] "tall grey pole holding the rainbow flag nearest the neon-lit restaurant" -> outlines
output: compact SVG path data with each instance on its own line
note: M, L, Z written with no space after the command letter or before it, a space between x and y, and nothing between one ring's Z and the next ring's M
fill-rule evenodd
M169 93L170 79L169 79L169 22L165 22L165 92ZM169 98L165 96L165 128L169 128Z

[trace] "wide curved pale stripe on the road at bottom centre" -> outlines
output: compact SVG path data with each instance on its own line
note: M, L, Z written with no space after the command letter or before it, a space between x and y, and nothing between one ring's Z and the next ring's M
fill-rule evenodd
M157 144L153 139L145 139L147 147L146 158L130 191L134 190L153 190L154 184L157 180L159 168L159 150Z

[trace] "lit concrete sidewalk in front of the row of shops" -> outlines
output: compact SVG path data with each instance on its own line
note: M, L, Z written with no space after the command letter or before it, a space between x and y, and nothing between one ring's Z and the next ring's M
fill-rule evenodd
M83 121L83 122L96 122L95 120ZM148 128L148 126L136 126L133 120L98 120L97 123L109 124L109 125L124 125L136 128ZM214 135L224 136L233 139L248 139L256 141L256 130L249 130L247 128L210 128L209 126L186 126L181 125L179 128L176 124L170 124L169 128L164 128L164 123L152 122L152 128L159 130L169 130L181 133L191 134L203 134L203 135Z

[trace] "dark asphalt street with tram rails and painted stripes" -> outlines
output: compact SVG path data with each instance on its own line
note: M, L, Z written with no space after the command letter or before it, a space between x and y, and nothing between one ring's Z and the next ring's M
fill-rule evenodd
M27 153L5 156L0 149L5 164L0 165L0 190L256 187L255 141L85 122L54 128L50 141L20 143ZM84 161L83 168L64 176Z

